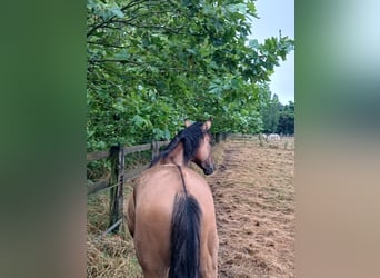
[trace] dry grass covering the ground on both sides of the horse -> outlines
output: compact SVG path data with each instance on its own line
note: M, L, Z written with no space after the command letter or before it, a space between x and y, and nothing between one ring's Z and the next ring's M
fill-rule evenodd
M276 145L251 139L214 147L218 170L207 180L217 210L219 277L294 276L293 146L288 138ZM130 185L124 188L127 197ZM128 232L126 240L97 239L107 229L108 211L107 190L89 198L87 277L141 277Z

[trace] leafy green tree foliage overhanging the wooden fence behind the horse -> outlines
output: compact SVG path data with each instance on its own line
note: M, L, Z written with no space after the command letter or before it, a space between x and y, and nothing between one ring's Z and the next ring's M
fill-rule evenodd
M88 151L169 139L184 118L262 128L262 85L292 50L249 40L253 1L88 0Z

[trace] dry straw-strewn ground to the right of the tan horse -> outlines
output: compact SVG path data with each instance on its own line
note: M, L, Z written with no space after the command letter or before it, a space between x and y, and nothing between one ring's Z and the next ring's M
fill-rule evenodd
M294 277L294 150L228 141L208 178L217 212L219 277Z

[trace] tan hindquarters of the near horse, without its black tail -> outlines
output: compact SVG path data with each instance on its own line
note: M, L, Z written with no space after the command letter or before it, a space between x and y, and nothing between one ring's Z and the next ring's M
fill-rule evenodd
M188 196L200 208L201 277L217 277L218 235L212 193L204 179L182 168ZM129 201L133 220L134 248L144 277L167 277L171 256L171 225L176 195L184 196L177 167L157 166L146 171L134 187L134 202ZM187 237L187 236L186 236Z

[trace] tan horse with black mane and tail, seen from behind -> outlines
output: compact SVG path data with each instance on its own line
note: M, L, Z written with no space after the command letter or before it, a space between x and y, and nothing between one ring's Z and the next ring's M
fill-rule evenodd
M212 192L211 119L186 120L181 130L137 179L124 207L127 227L146 278L218 275L219 238Z

